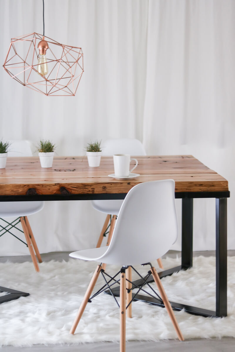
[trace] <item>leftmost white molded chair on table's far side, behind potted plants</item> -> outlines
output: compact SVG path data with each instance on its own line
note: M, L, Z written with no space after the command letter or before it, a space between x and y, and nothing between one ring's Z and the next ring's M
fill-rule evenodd
M23 157L23 156L32 156L32 151L30 148L30 142L27 140L15 140L10 141L10 151L8 152L8 157ZM7 165L6 165L7 167ZM39 271L38 263L36 256L38 258L38 262L42 263L41 255L38 251L37 243L32 233L32 229L29 224L29 220L27 218L28 215L35 214L42 210L44 206L44 202L42 201L33 201L33 202L0 202L0 219L4 221L5 227L1 226L0 229L0 237L8 232L12 234L14 237L18 238L14 235L10 230L12 228L16 228L20 232L24 232L26 243L19 239L20 241L24 242L27 247L29 247L30 255L33 261L33 265L35 266L35 270ZM17 219L12 221L11 223L3 218L8 218L12 216L17 216ZM16 225L21 222L23 231L20 230ZM5 231L5 232L4 232ZM33 251L35 250L35 253Z

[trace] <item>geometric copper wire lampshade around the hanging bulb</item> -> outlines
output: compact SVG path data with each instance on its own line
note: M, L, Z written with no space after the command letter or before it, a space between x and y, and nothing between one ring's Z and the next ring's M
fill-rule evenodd
M42 76L37 72L37 66L39 65L37 45L42 40L42 37L42 34L33 32L12 38L3 64L5 71L23 86L44 95L74 96L84 72L82 49L76 46L60 44L56 40L45 36L45 40L49 45L46 53L48 74ZM26 46L29 46L25 58L22 58L16 50L16 44L20 42L24 42ZM59 56L57 55L58 58L54 54L55 51L60 53ZM12 70L17 70L17 72L13 73ZM38 80L33 81L34 78L37 78L35 73L38 75ZM20 76L20 74L23 75Z

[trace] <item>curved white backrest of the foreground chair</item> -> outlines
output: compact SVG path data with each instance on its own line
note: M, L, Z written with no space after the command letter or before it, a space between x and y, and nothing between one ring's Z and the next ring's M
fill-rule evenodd
M174 191L174 180L143 182L131 188L100 261L135 265L165 254L178 237Z

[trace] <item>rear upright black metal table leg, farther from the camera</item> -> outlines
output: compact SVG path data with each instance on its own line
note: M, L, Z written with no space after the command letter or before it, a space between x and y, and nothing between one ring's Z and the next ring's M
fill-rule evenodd
M193 199L182 199L182 244L181 266L188 269L193 266Z

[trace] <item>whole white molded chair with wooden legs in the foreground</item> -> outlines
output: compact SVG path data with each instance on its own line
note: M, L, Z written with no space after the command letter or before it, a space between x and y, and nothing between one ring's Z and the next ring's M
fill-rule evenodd
M101 262L87 288L84 300L70 330L71 334L74 334L86 304L90 301L89 298L100 272L103 276L105 274L102 263L120 265L122 266L118 272L118 274L120 273L120 351L124 352L126 311L131 318L131 267L136 264L149 264L149 275L153 275L178 338L181 341L184 340L159 275L149 263L156 256L163 256L178 237L174 191L174 180L144 182L134 186L126 195L120 208L110 245L70 254L73 258ZM115 281L117 280L116 276L113 277ZM107 287L110 287L109 285Z

